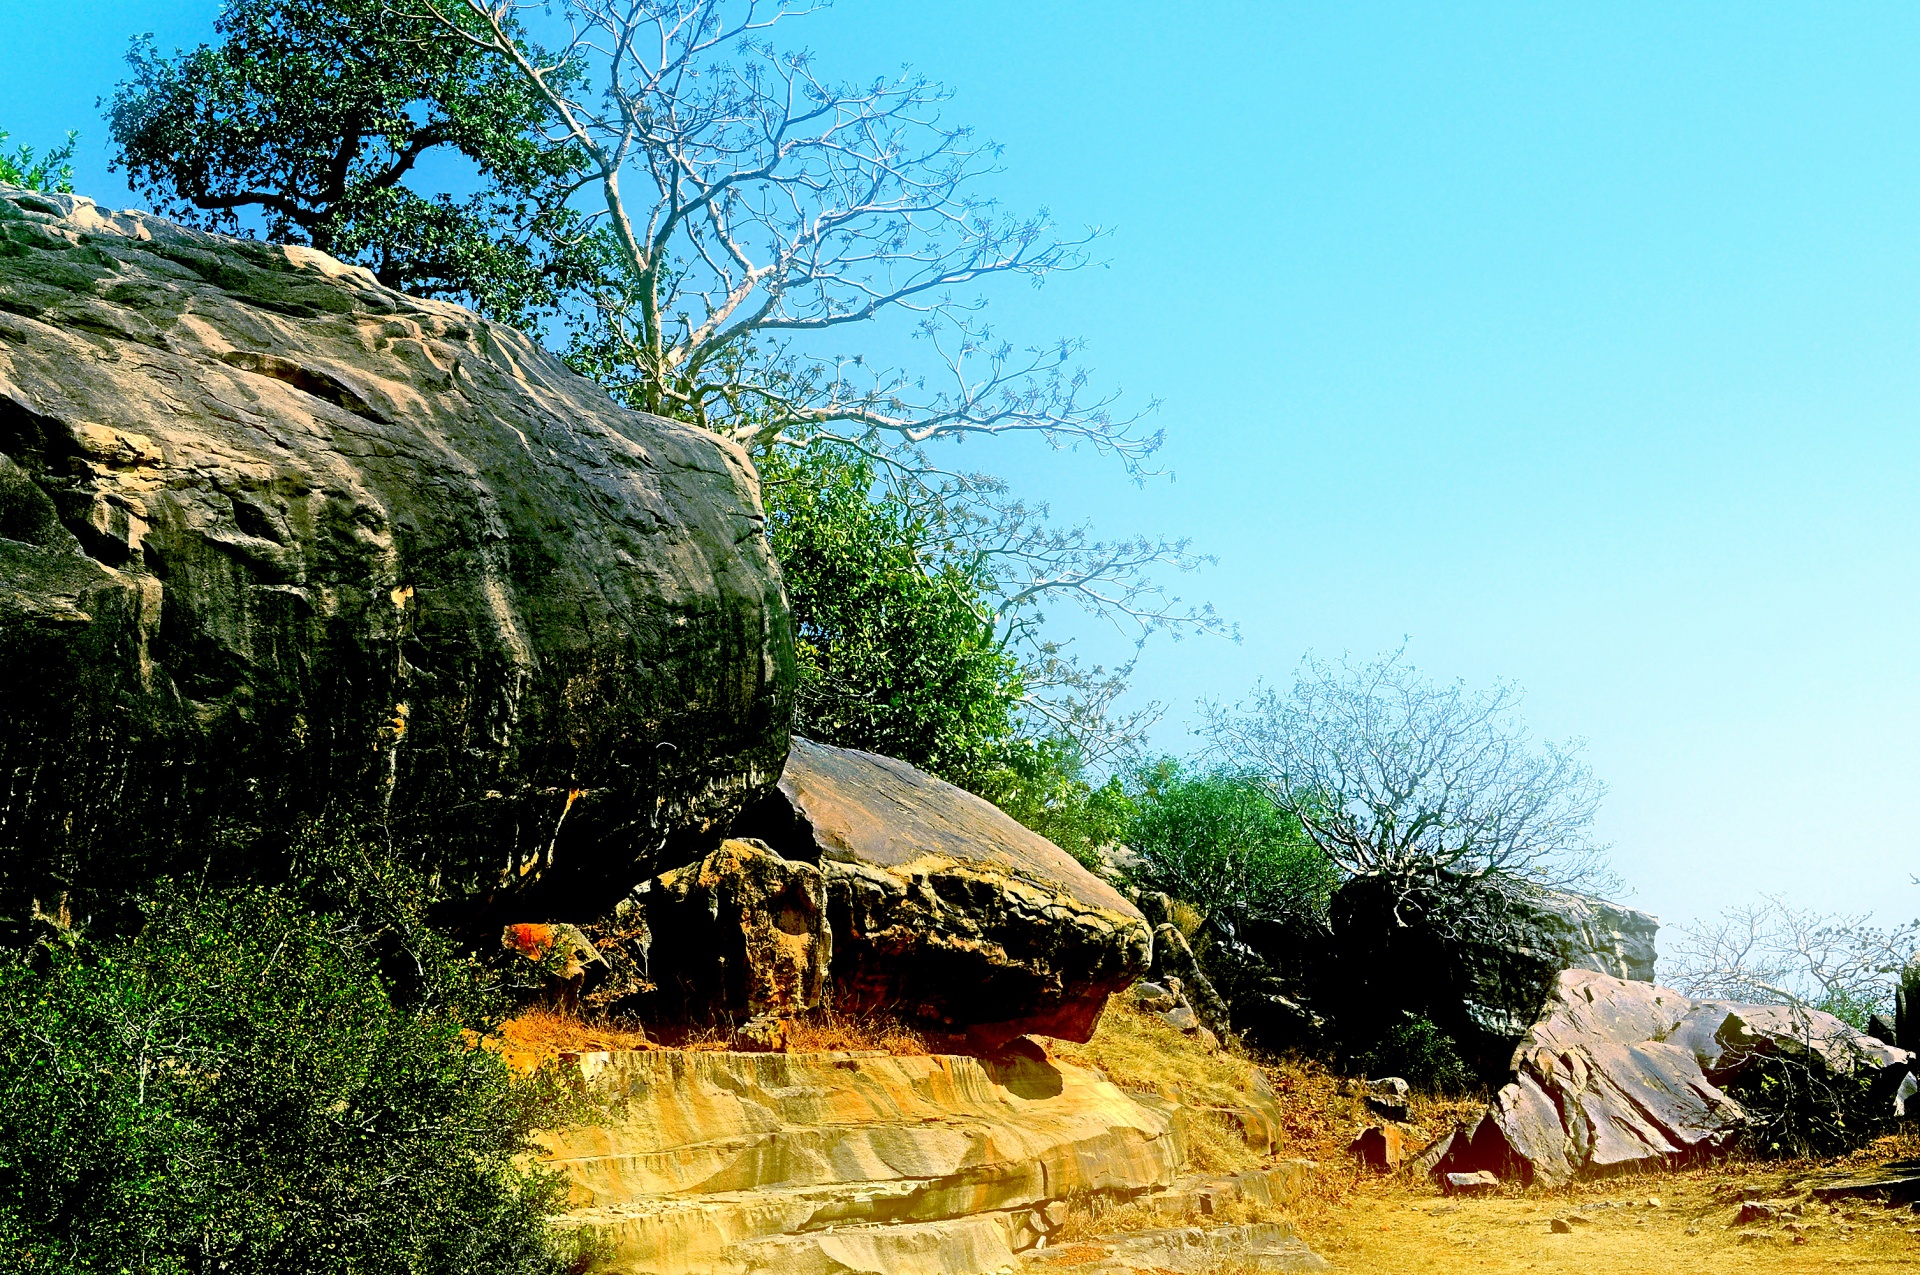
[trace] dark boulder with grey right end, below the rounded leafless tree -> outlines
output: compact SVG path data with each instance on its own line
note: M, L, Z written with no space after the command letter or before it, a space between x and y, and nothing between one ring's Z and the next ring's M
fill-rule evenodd
M1645 912L1501 878L1356 878L1331 906L1332 950L1315 1004L1350 1043L1407 1016L1432 1022L1498 1075L1561 970L1653 977Z

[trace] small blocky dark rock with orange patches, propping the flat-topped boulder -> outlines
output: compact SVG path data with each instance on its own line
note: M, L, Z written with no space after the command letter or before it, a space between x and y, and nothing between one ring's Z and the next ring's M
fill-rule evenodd
M682 1022L745 1020L778 1048L783 1023L820 1004L833 962L820 868L758 841L724 841L645 891L657 1010Z

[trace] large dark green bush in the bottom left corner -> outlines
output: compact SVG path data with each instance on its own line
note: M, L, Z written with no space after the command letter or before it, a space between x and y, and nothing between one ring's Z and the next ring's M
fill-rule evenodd
M165 887L144 916L0 964L6 1269L564 1269L557 1179L516 1162L553 1095L478 1046L474 966L294 889Z

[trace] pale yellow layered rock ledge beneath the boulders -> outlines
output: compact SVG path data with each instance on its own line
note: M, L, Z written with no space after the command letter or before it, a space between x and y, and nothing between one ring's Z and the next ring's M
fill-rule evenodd
M620 1116L541 1141L609 1275L987 1275L1058 1229L1066 1200L1162 1191L1183 1162L1177 1108L1039 1050L574 1066Z

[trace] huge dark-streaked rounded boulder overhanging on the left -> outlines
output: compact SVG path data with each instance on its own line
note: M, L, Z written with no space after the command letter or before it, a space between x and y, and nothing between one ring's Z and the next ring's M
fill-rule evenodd
M616 897L778 778L793 655L737 447L323 253L0 188L0 668L15 904L323 803Z

